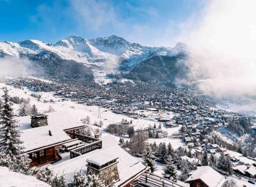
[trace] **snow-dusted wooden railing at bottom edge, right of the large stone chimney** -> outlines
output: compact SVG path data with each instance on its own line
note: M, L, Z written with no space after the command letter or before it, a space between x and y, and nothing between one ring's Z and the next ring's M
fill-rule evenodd
M137 181L133 181L133 187L187 187L166 178L159 177L153 173L143 173Z

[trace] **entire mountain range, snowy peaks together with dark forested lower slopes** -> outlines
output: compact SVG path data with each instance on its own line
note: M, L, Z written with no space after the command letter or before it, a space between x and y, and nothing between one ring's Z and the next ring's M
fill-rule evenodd
M186 44L174 47L147 47L112 35L83 39L69 36L49 44L35 39L0 42L0 57L28 58L33 68L50 76L93 79L93 70L119 73L129 79L173 84L184 78Z

